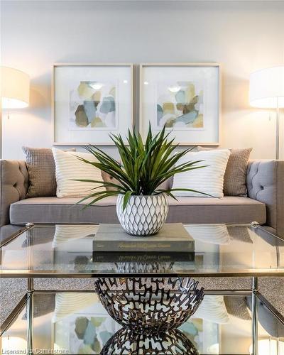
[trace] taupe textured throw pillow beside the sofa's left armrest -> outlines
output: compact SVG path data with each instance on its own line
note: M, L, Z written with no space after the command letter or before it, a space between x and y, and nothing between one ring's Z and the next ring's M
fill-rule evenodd
M22 147L26 155L29 186L26 198L56 196L55 163L50 148ZM70 151L76 151L71 149Z

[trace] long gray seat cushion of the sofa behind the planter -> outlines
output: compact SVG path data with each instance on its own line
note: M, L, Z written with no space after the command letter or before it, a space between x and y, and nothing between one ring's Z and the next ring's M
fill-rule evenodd
M83 204L75 204L78 200L77 197L34 197L15 202L10 208L11 223L118 223L116 197L107 197L87 209L82 209ZM169 198L169 203L167 222L266 222L266 205L249 197L178 197L178 201Z

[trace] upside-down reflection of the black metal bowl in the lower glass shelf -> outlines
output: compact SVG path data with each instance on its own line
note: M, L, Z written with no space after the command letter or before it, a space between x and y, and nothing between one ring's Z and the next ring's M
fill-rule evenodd
M100 355L199 355L195 346L178 329L148 337L120 329L105 344Z

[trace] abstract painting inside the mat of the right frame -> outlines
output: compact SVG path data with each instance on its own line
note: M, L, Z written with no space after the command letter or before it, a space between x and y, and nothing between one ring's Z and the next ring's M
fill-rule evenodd
M157 84L157 127L202 129L204 92L201 83L173 82Z

